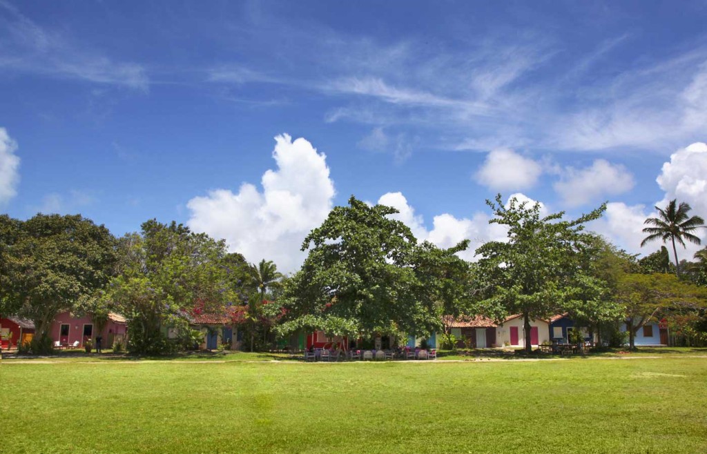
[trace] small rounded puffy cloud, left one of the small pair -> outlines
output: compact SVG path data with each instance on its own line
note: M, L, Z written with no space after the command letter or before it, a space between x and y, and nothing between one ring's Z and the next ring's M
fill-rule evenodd
M491 151L476 173L479 183L495 191L527 189L537 182L542 166L508 148Z

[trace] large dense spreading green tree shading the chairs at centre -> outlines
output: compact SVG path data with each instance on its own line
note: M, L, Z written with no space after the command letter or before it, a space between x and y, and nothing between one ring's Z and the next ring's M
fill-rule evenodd
M302 245L308 256L284 291L281 333L426 337L440 328L437 299L445 286L429 269L446 261L445 254L430 244L419 248L409 227L390 218L395 213L351 196L310 232Z

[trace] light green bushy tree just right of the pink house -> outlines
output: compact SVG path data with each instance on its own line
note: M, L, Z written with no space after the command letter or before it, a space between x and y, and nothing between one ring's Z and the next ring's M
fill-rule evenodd
M189 313L223 311L237 297L228 272L225 241L156 220L119 241L119 275L109 297L128 321L128 348L140 354L173 347L167 328L189 337Z

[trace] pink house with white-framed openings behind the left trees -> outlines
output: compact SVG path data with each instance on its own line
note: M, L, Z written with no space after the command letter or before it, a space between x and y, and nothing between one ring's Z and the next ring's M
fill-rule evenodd
M64 347L74 345L76 341L78 346L83 346L83 340L94 340L98 335L90 317L75 317L69 311L59 313L57 318L54 318L50 333L54 344L59 342L59 345ZM103 348L112 347L115 340L120 340L125 345L127 335L125 318L117 313L109 313L103 333L100 334L103 337Z

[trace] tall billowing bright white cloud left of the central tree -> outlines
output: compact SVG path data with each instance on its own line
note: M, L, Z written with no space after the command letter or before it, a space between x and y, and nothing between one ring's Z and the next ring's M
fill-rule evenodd
M274 261L284 272L302 263L299 249L304 237L319 226L332 209L334 182L329 178L326 155L317 153L304 138L275 138L276 170L262 176L262 192L244 183L238 193L209 191L187 203L187 224L228 242L231 251L250 262Z

